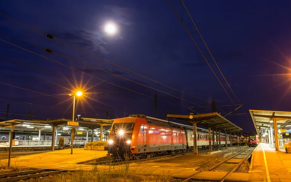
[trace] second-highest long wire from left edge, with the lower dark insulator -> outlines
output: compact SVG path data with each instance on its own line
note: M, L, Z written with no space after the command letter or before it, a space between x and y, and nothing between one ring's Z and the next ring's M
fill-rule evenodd
M15 37L12 37L12 36L6 35L6 34L4 34L4 33L0 33L0 34L5 35L5 36L10 37L10 38L13 38L13 39L16 39L16 40L21 41L21 42L28 43L28 44L30 44L30 45L32 45L32 46L35 46L35 47L37 47L37 48L40 48L40 49L42 49L42 50L46 50L46 49L44 49L44 48L42 48L42 47L39 47L39 46L37 46L37 45L34 45L34 44L30 43L30 42L26 42L26 41L23 41L23 40L17 39L17 38L15 38ZM63 54L59 54L59 53L53 52L51 49L49 49L49 52L52 52L53 54L56 54L56 55L59 55L59 56L63 56L63 57L65 57L65 58L67 58L67 59L71 59L71 60L76 61L76 62L78 62L78 63L81 63L81 64L83 64L83 65L86 65L86 66L89 66L89 67L91 67L91 68L94 68L94 69L96 69L96 70L100 70L100 71L103 71L103 72L109 73L109 74L111 74L111 75L114 75L114 76L116 76L116 77L119 77L119 78L125 79L125 80L130 81L130 82L133 82L133 83L135 83L135 84L140 84L140 85L145 86L145 87L147 87L147 88L150 88L150 89L153 89L153 90L156 90L156 91L162 92L163 94L167 94L167 95L169 95L169 96L172 96L172 97L175 97L175 98L178 98L178 99L184 100L184 101L189 102L189 103L192 103L192 104L195 104L195 103L193 103L193 102L191 102L191 101L189 101L189 100L186 100L186 99L183 99L183 98L179 98L179 97L177 97L177 96L174 96L174 95L169 94L169 93L167 93L167 92L164 92L164 91L162 91L162 90L159 90L159 89L153 88L153 87L151 87L151 86L148 86L148 85L145 85L145 84L141 84L141 83L139 83L139 82L136 82L136 81L130 80L130 79L128 79L128 78L122 77L122 76L120 76L120 75L114 74L114 73L112 73L112 72L110 72L110 71L102 70L102 69L100 69L100 68L97 68L97 67L92 66L92 65L90 65L90 64L84 63L84 62L79 61L79 60L77 60L77 59L74 59L74 58L72 58L72 57L65 56L65 55L63 55ZM198 105L198 104L196 104L196 105Z

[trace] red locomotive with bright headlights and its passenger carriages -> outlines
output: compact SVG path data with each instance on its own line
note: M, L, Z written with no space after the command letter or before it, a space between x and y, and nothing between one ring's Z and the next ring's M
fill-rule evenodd
M226 144L225 138L225 134L221 133L222 145ZM161 153L173 154L191 151L194 149L193 139L192 126L141 114L130 115L114 120L105 150L114 156L128 153L133 158L139 159ZM209 140L208 130L197 128L198 148L207 148ZM213 140L212 136L211 140ZM233 136L232 140L233 144L239 143L239 138L236 136ZM227 144L230 144L229 135Z

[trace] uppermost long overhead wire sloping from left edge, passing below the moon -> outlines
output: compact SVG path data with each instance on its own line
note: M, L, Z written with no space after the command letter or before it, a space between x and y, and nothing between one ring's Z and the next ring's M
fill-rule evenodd
M203 101L210 102L209 100L205 100L205 99L203 99L203 98L198 98L198 97L196 97L196 96L194 96L194 95L192 95L192 94L189 94L189 93L186 93L186 92L184 92L184 91L178 90L178 89L173 88L173 87L171 87L171 86L168 86L168 85L166 85L166 84L162 84L161 82L158 82L158 81L156 81L156 80L153 80L153 79L151 79L151 78L148 78L148 77L146 77L146 76L144 76L144 75L142 75L142 74L139 74L139 73L137 73L137 72L135 72L135 71L129 70L129 69L127 69L127 68L124 68L124 67L122 67L122 66L120 66L120 65L117 65L117 64L115 64L115 63L113 63L113 62L111 62L111 61L108 61L108 60L106 60L106 59L104 59L104 58L101 58L101 57L96 56L96 55L94 55L94 54L92 54L92 53L89 53L89 52L87 52L87 51L84 51L84 50L82 50L82 49L80 49L80 48L78 48L78 47L75 47L75 46L73 46L73 45L71 45L71 44L69 44L69 43L66 43L66 42L60 41L60 40L56 39L55 37L53 37L52 35L45 34L44 32L41 32L41 31L39 31L39 30L37 30L37 29L35 29L35 28L32 28L31 26L26 25L26 24L24 24L24 23L22 23L22 22L20 22L20 21L18 21L18 20L16 20L16 19L14 19L14 18L12 18L12 17L6 15L6 14L2 14L2 13L0 13L0 14L3 15L3 16L6 16L7 18L10 18L10 19L13 20L13 21L16 21L17 23L19 23L19 24L21 24L21 25L24 25L25 27L31 28L32 30L34 30L34 31L36 31L36 32L38 32L38 33L41 33L41 34L43 34L43 35L46 35L49 39L53 39L53 40L56 40L56 41L58 41L58 42L61 42L62 44L66 44L66 45L68 45L68 46L70 46L70 47L72 47L72 48L74 48L74 49L77 49L77 50L83 52L83 53L86 53L86 54L88 54L88 55L91 55L91 56L97 57L97 58L100 59L100 60L103 60L103 61L105 61L105 62L108 62L108 63L110 63L110 64L112 64L112 65L114 65L114 66L117 66L117 67L119 67L119 68L121 68L121 69L127 70L127 71L129 71L129 72L131 72L131 73L134 73L134 74L136 74L136 75L139 75L139 76L141 76L141 77L143 77L143 78L146 78L146 79L148 79L148 80L150 80L150 81L152 81L152 82L155 82L155 83L157 83L157 84L161 84L161 85L163 85L163 86L166 86L166 87L168 87L168 88L171 88L171 89L176 90L176 91L178 91L178 92L181 92L181 93L183 93L183 94L186 94L186 95L192 96L192 97L194 97L194 98L197 98L197 99L200 99L200 100L203 100ZM211 103L211 102L210 102L210 103Z

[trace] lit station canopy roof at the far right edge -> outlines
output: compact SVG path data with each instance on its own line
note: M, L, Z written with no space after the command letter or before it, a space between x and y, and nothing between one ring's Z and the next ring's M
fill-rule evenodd
M276 118L278 129L291 128L291 112L265 110L249 110L249 112L251 114L258 135L261 133L262 129L267 130L269 126L273 126L273 118Z

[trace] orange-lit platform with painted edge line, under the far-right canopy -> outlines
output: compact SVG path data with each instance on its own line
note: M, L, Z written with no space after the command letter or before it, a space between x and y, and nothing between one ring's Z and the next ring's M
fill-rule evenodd
M249 182L290 182L291 154L259 143L252 155Z

